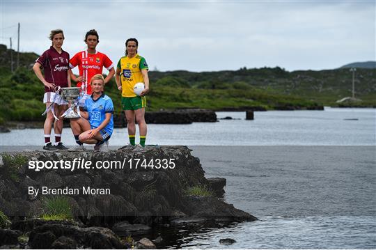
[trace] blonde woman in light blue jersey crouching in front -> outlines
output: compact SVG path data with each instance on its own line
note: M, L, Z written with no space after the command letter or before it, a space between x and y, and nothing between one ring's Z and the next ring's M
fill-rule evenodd
M71 120L76 142L95 144L95 151L108 151L108 140L113 132L113 103L109 96L102 93L104 78L97 74L91 78L93 94L85 101L81 118ZM106 147L103 147L104 144Z

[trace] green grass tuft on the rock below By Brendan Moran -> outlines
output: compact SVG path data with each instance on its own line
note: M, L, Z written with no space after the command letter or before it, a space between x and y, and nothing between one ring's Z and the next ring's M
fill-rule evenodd
M47 196L42 198L44 213L40 216L45 220L73 219L72 208L65 196Z

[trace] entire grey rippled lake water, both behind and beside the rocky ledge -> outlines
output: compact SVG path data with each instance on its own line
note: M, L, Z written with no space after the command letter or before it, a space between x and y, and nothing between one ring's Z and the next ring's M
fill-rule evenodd
M228 203L259 221L171 228L166 248L375 249L375 109L218 112L238 120L148 125L148 143L188 145ZM73 145L70 130L63 141ZM127 143L116 129L111 146ZM1 134L1 146L42 145L42 130ZM6 147L3 147L6 148ZM175 233L177 237L169 239ZM230 237L235 244L219 244Z

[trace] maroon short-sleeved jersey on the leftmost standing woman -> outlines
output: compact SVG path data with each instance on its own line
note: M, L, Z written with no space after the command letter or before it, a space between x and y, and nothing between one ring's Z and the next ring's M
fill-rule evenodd
M36 59L36 63L42 65L46 81L55 84L55 86L61 86L61 88L68 87L68 52L61 50L61 54L58 54L56 49L51 46ZM45 92L51 92L51 90L45 87Z

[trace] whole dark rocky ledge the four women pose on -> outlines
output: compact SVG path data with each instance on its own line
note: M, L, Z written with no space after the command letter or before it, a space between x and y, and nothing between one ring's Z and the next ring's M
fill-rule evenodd
M75 159L90 161L91 166L104 161L127 164L123 169L85 169L84 164L78 164L73 171L66 165L65 169L56 165L57 169L40 171L29 167L33 166L31 161L40 162L42 166L46 162L65 163ZM148 164L131 168L130 162L134 159L145 160ZM151 159L154 166L150 164ZM169 164L157 168L156 159L173 159L174 167ZM185 146L150 146L141 152L125 148L109 153L3 153L0 211L10 223L0 224L0 244L2 248L152 249L163 239L138 238L137 232L160 226L256 220L251 214L224 202L221 197L225 185L223 178L206 179L200 160ZM28 187L83 186L109 188L111 194L63 196L69 203L72 218L62 220L46 219L42 215L47 211L45 198L52 196L35 196L28 192ZM199 193L191 192L193 189L198 189Z

